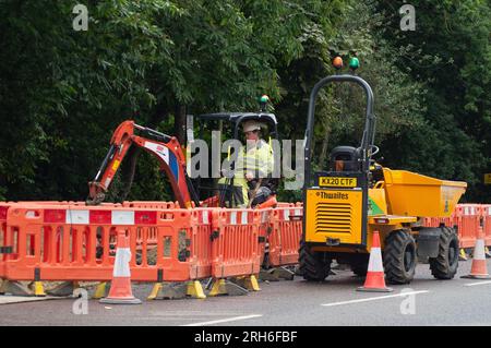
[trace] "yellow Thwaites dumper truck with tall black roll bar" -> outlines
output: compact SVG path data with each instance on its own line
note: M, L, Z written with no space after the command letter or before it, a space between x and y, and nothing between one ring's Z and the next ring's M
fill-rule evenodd
M367 97L364 130L358 147L336 146L328 166L313 170L315 99L330 83L354 83ZM465 182L444 181L375 163L374 97L361 77L338 74L321 80L309 101L304 148L303 235L300 272L323 280L333 260L363 276L373 231L381 236L386 280L408 284L418 259L428 260L435 278L453 278L458 266L458 236L453 226L424 228L423 217L450 216L465 192Z

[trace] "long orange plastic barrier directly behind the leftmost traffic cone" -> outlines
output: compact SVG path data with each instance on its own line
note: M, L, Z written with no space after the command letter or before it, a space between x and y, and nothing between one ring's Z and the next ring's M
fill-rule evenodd
M13 204L4 237L11 250L0 269L11 280L109 280L111 244L123 228L134 255L133 280L197 279L211 272L209 247L203 243L209 226L199 211Z

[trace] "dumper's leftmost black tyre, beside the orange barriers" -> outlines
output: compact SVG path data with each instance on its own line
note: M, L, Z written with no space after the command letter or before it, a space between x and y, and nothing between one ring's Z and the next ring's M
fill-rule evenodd
M303 279L309 281L324 280L331 271L331 259L324 252L312 251L302 240L300 241L299 263Z

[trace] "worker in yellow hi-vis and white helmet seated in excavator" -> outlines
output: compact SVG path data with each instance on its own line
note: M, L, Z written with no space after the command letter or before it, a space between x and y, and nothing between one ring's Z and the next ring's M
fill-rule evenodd
M261 124L253 120L246 121L243 132L247 143L246 147L240 148L235 163L231 192L230 181L226 178L218 181L220 194L226 192L225 202L229 202L230 207L255 206L265 202L274 191L270 180L274 168L273 148L261 139Z

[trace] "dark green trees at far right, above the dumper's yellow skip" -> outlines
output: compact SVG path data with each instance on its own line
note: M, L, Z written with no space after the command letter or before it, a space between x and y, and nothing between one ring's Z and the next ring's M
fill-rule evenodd
M416 32L398 29L403 1L378 1L380 34L424 94L424 124L393 136L391 165L469 183L465 199L489 202L483 173L491 169L491 5L487 1L412 1Z

